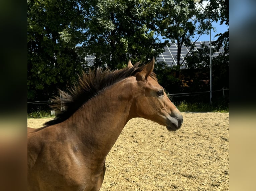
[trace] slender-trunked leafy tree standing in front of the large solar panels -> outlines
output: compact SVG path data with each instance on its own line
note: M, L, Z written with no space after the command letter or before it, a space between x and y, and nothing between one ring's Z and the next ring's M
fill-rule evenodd
M177 43L177 67L175 67L175 78L179 78L181 47L191 46L191 36L196 32L194 15L196 9L191 0L163 0L159 19L159 33L169 39L171 43Z

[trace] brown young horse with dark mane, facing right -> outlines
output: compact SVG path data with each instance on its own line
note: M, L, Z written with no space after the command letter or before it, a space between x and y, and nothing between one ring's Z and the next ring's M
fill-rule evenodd
M28 190L99 191L106 156L130 119L143 117L169 131L181 127L183 117L158 84L154 62L83 72L62 92L65 99L55 97L55 117L28 127Z

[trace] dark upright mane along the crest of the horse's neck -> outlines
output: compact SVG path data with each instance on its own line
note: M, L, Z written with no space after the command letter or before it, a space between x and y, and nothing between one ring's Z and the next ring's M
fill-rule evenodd
M135 76L145 67L145 65L138 67L138 64L135 64L131 68L126 67L115 71L103 71L100 69L90 70L89 74L83 72L82 76L79 77L78 85L69 93L59 90L62 94L62 99L59 96L55 96L53 99L54 104L51 106L55 110L55 117L44 123L44 127L65 121L92 97L121 80ZM157 80L155 73L152 72L150 76Z

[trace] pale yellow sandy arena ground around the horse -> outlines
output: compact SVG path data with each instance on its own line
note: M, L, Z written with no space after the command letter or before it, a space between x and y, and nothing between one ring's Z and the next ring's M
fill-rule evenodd
M100 191L229 190L229 113L182 115L175 132L143 118L130 120L107 156ZM27 122L37 128L48 120Z

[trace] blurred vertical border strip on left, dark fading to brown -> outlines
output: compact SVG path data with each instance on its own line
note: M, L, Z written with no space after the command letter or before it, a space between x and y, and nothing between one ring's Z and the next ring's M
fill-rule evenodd
M0 2L0 190L27 190L27 2Z

